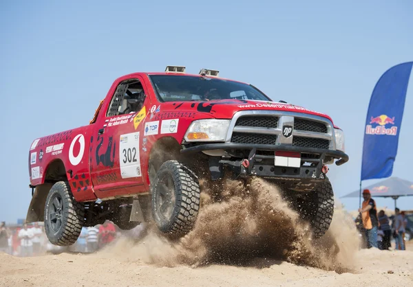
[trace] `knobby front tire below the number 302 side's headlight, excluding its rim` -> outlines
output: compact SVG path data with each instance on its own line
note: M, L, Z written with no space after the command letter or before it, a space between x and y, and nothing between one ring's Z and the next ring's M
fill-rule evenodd
M160 185L171 176L174 185L175 204L171 216L165 218L160 211ZM152 217L158 229L171 238L180 238L191 231L200 207L200 185L198 177L178 161L165 161L151 188ZM172 205L172 203L171 203Z

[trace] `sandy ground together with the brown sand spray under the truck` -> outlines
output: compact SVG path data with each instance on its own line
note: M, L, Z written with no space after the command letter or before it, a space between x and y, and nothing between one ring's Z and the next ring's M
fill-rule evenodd
M264 181L229 181L201 199L195 227L178 241L149 229L94 254L0 254L0 286L413 286L413 242L407 251L360 250L352 217L337 203L330 229L315 240Z

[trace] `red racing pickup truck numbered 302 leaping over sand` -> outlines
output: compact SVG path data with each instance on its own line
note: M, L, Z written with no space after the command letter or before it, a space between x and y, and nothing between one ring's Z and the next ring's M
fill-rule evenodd
M59 246L105 220L180 238L202 208L200 179L226 176L277 184L319 238L334 210L328 165L348 161L328 115L183 66L116 79L89 124L35 139L28 157L26 222L44 221Z

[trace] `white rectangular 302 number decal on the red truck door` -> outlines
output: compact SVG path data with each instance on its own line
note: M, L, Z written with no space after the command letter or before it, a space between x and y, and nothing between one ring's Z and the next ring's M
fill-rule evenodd
M142 176L139 159L139 132L120 135L120 176L123 179Z

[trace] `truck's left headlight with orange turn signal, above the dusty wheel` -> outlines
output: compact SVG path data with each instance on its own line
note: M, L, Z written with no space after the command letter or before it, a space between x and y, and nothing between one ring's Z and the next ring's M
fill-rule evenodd
M186 141L225 141L229 119L200 119L192 122L184 139Z

